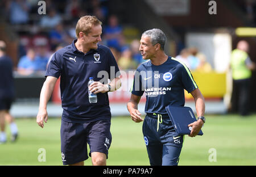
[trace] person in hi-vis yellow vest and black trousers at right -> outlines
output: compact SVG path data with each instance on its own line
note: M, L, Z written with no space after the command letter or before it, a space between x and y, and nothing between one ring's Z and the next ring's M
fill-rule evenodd
M248 52L249 44L241 40L232 51L230 61L233 78L232 111L238 110L242 116L249 115L251 70L255 69Z

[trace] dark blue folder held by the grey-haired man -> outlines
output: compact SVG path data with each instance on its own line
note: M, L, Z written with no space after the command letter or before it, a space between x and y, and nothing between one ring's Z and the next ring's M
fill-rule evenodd
M189 130L188 125L194 121L197 121L190 107L177 107L168 105L166 107L166 111L171 118L176 133L179 134L179 136L182 134L190 134L191 130ZM200 130L197 135L203 135L202 130Z

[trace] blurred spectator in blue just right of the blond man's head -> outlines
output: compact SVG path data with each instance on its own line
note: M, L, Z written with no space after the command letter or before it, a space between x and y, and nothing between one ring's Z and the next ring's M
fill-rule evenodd
M122 27L119 25L118 18L115 15L109 17L109 23L104 29L104 39L108 47L121 50L121 42L123 40Z

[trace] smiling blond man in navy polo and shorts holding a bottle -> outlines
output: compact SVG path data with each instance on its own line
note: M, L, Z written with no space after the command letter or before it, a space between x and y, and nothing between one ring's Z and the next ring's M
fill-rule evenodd
M36 122L44 127L48 120L47 102L60 77L61 105L61 158L63 165L84 165L89 155L93 165L106 165L112 141L108 91L120 85L118 65L108 47L98 45L102 27L96 16L83 16L76 26L77 39L53 54L46 71L46 81L40 94ZM115 76L110 78L111 71ZM108 78L102 78L105 71ZM113 74L112 74L113 75ZM93 82L88 88L89 77ZM110 79L110 83L99 81ZM105 81L104 80L104 81ZM88 90L97 94L97 103L89 103Z

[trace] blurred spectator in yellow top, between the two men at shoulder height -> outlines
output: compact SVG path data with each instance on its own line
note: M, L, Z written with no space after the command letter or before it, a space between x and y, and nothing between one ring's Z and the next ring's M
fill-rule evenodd
M118 60L118 66L120 69L123 69L123 70L137 68L138 65L132 58L132 53L130 48L126 48L122 51L121 57Z

